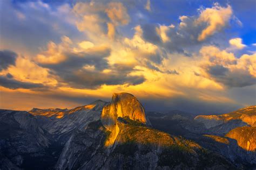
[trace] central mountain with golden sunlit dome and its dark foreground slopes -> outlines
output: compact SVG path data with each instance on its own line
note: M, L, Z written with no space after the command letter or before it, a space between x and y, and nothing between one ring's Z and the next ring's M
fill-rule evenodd
M66 143L56 168L235 169L221 155L152 129L146 120L144 108L133 95L113 94L101 121L73 134Z

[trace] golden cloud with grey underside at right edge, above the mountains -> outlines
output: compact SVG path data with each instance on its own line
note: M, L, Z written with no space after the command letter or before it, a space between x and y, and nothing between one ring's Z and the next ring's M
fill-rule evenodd
M222 83L227 87L245 87L256 84L256 54L235 58L233 53L221 51L214 46L204 46L200 67L203 76Z

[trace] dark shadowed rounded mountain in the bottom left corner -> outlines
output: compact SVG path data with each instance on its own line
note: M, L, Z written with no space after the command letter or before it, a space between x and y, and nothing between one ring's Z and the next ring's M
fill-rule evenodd
M55 153L51 135L38 124L35 116L25 111L0 110L0 169L29 168L41 160L53 166ZM57 148L55 148L57 152ZM33 162L33 163L32 163Z

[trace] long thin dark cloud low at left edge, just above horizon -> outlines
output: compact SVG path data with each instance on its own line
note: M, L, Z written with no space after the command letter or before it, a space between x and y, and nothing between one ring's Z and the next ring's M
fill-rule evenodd
M10 73L8 73L6 76L0 76L0 86L9 89L37 89L44 87L44 85L40 83L29 83L15 80Z

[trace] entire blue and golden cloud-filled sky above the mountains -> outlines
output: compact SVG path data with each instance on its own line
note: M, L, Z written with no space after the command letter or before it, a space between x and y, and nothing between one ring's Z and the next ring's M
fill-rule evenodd
M0 108L131 93L146 111L256 103L256 2L0 1Z

